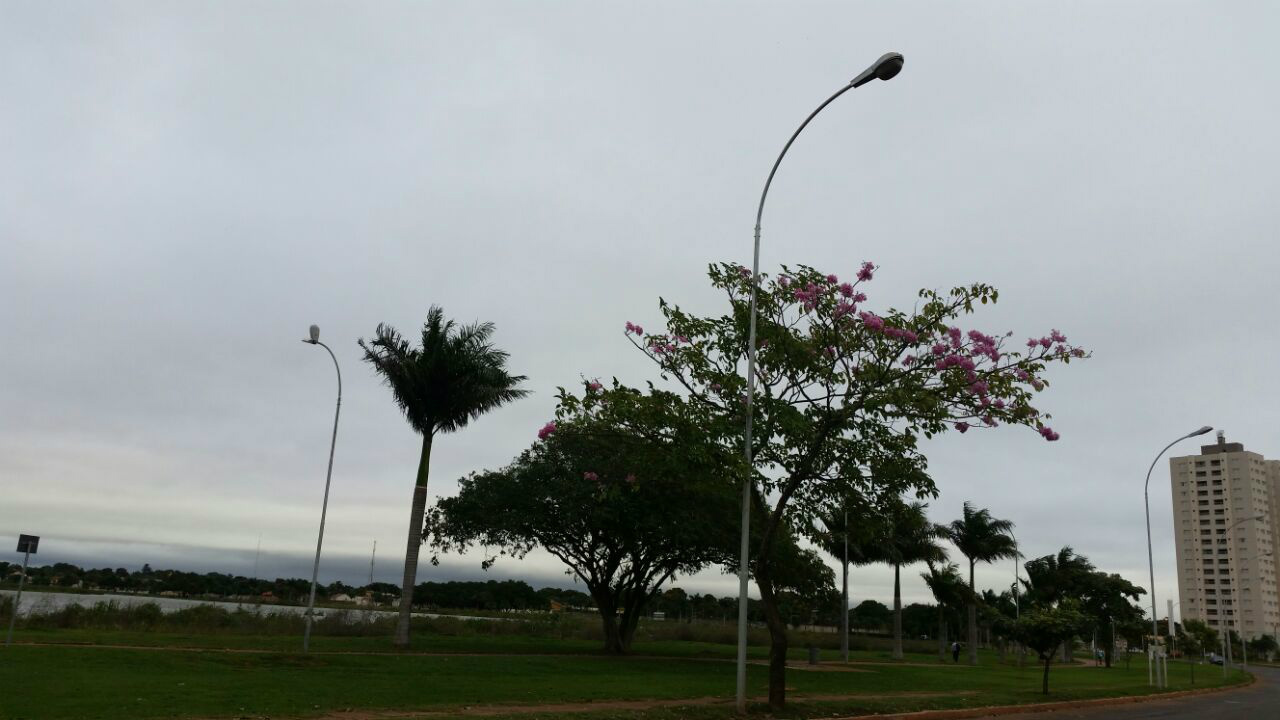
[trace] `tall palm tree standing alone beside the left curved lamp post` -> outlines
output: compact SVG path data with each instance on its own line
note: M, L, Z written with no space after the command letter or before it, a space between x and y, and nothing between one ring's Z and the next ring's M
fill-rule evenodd
M422 436L408 518L404 580L396 624L397 646L408 646L431 441L438 433L462 429L470 420L529 393L516 387L525 380L525 375L507 374L507 354L489 342L493 329L493 323L457 325L445 320L444 310L433 305L422 324L420 347L410 346L396 328L387 324L378 325L372 341L360 341L365 360L392 389L408 424Z

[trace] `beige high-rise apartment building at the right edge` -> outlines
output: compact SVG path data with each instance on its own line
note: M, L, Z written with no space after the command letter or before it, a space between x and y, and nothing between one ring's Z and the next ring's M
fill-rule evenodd
M1280 460L1226 442L1220 430L1199 455L1171 457L1169 471L1183 619L1249 639L1275 634Z

